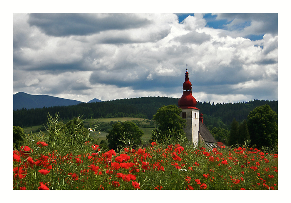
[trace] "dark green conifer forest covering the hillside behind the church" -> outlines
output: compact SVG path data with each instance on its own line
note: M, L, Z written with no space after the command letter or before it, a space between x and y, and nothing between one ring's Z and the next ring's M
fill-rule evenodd
M131 99L117 99L112 101L80 103L72 106L44 107L37 109L25 109L13 111L13 125L28 127L42 125L47 122L47 115L59 114L60 119L69 120L73 117L83 116L90 118L111 117L137 117L152 119L157 110L165 105L178 104L177 98L150 96ZM210 102L197 102L196 107L202 112L205 125L213 127L229 128L235 118L238 122L247 119L247 115L255 107L268 104L278 114L278 101L250 100L238 103L210 104Z

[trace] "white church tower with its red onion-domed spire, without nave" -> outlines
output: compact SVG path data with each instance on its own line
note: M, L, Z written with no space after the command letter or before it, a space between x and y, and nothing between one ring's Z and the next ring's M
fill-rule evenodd
M186 127L183 130L193 146L197 146L199 140L199 109L195 107L196 104L197 101L192 96L192 84L189 81L188 69L186 69L183 95L178 101L178 106L182 109L180 116L186 120Z

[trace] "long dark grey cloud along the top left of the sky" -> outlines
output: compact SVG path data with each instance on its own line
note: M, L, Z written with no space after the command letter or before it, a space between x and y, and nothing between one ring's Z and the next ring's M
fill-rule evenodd
M105 30L131 29L150 24L135 14L30 14L30 26L39 27L52 36L91 35Z

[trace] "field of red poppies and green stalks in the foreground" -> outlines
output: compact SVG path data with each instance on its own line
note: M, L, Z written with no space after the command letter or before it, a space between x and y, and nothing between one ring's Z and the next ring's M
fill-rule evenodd
M53 131L14 149L14 190L278 189L278 154L260 149L194 148L168 139L103 151L89 137Z

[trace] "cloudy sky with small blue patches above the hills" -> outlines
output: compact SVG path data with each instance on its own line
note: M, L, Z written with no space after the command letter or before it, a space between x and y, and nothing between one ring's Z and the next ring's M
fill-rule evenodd
M278 100L277 13L13 14L13 94Z

